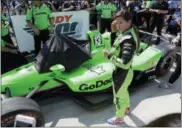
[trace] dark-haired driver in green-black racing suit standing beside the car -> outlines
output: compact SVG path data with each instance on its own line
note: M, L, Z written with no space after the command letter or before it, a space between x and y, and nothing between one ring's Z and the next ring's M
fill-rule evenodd
M119 11L111 25L111 50L104 51L117 70L114 75L113 94L116 116L107 120L109 124L121 124L125 114L130 112L128 86L133 79L132 61L139 49L138 30L132 24L132 14L127 10ZM117 33L117 34L116 34Z

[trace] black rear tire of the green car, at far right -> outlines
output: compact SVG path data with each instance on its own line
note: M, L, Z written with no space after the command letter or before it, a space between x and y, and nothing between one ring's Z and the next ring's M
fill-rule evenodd
M170 71L174 62L175 53L170 51L159 60L155 69L156 76L165 76Z

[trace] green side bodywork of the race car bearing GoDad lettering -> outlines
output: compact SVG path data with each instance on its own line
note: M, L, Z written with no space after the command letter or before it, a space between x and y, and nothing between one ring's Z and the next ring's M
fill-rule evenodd
M62 76L73 92L95 92L112 86L112 73L115 68L100 51L73 71L62 73Z

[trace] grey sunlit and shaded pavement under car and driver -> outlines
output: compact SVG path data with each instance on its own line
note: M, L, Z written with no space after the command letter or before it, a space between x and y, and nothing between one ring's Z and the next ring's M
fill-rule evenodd
M160 78L166 80L169 75ZM159 88L157 81L137 86L131 92L131 114L121 126L143 126L157 117L181 113L181 79L172 88ZM45 116L46 127L56 126L111 126L106 120L115 113L114 105L97 111L88 111L72 99L59 95L39 102Z

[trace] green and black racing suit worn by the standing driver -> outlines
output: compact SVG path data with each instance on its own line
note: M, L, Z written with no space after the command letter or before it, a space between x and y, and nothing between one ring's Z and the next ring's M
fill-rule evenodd
M114 43L113 43L114 41ZM135 26L120 33L111 33L112 48L108 58L116 65L113 74L113 95L116 105L116 116L123 118L125 110L130 107L128 87L133 79L132 61L139 49L139 36Z

